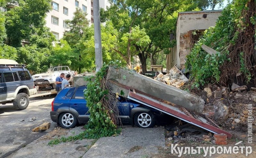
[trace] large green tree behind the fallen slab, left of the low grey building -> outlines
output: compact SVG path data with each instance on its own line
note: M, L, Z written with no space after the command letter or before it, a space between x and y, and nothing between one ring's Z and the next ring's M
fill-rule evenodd
M220 0L222 1L222 0ZM143 72L146 71L146 60L152 53L155 54L164 50L169 52L168 48L172 47L169 35L175 32L177 12L192 11L204 9L210 6L210 2L216 4L219 1L204 0L163 0L163 1L133 1L133 0L112 0L111 6L107 11L102 11L103 20L111 20L114 28L120 31L118 39L126 33L132 33L132 28L140 26L145 28L145 36L149 36L150 42L147 45L136 45L137 55L143 66ZM130 55L131 41L127 42L127 53ZM129 57L128 57L129 58Z

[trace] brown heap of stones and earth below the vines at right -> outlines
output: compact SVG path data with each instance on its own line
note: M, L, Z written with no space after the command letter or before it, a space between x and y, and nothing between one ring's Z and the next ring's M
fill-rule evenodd
M246 86L238 86L233 83L230 90L227 87L208 84L200 96L206 103L204 115L216 124L232 130L246 131L249 117L254 120L252 125L256 127L255 88L247 91Z

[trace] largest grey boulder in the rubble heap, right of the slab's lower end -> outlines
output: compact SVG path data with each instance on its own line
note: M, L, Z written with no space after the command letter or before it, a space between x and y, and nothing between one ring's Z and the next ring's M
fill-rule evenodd
M214 120L223 123L228 119L228 107L221 100L213 102Z

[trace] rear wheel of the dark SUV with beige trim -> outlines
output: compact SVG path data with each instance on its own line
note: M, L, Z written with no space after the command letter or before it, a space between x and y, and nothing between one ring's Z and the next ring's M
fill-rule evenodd
M16 110L24 110L28 107L29 98L26 93L17 94L16 98L13 101L13 107Z

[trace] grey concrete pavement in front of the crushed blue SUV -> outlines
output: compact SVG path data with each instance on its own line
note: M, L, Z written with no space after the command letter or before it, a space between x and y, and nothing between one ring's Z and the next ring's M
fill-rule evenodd
M77 135L83 131L79 126L73 129L62 129L67 131L65 135ZM54 130L52 131L54 132ZM83 139L74 142L60 143L48 146L51 133L34 140L27 146L20 148L8 158L52 158L52 157L74 157L74 158L139 158L150 157L158 153L158 147L164 147L164 127L142 129L126 125L122 134L116 137L104 137L97 141L95 139ZM61 136L60 136L61 137ZM59 137L59 138L60 138ZM95 142L96 141L96 142Z

